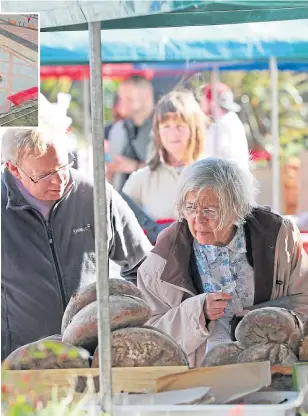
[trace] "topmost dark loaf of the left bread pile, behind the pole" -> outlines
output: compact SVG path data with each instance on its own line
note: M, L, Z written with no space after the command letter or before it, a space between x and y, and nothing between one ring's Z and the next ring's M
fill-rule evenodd
M141 292L137 286L124 279L117 278L109 279L109 296L112 295L131 295L142 298ZM77 312L96 300L96 282L90 283L78 290L77 293L74 293L63 315L61 333L64 333L67 325Z

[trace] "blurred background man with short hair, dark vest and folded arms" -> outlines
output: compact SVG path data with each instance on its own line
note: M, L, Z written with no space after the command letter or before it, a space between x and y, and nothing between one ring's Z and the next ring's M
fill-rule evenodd
M108 134L108 179L120 191L135 170L144 167L152 142L154 90L150 81L139 75L119 87L119 108L127 118L118 121Z

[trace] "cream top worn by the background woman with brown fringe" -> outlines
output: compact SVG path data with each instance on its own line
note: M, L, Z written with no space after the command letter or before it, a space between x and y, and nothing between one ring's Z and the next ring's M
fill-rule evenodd
M123 192L154 221L175 218L178 177L176 168L164 162L155 170L146 166L130 175Z

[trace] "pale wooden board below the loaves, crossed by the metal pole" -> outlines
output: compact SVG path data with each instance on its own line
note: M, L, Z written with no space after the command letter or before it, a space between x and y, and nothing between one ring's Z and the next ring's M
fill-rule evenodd
M114 393L131 392L141 393L155 387L155 380L168 374L187 371L188 367L125 367L112 369L112 387ZM42 391L51 393L52 387L58 387L60 396L74 385L78 376L98 376L98 368L80 368L69 370L10 370L5 371L5 384L7 386L20 386L28 390L29 386L37 385ZM27 382L25 383L25 377Z

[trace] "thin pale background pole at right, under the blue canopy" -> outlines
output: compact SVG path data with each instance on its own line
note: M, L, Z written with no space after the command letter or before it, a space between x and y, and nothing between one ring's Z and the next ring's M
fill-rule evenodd
M279 98L278 98L278 68L275 57L270 58L271 102L272 102L272 208L280 213L280 161L279 161Z

